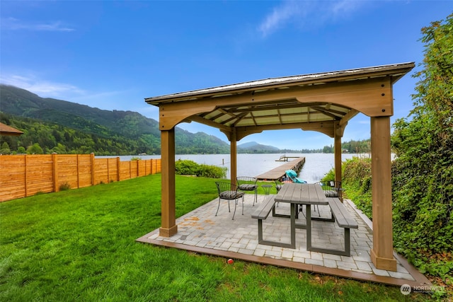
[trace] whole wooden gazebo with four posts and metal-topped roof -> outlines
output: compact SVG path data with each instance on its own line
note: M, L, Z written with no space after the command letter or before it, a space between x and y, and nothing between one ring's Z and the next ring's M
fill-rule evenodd
M393 84L413 62L285 76L146 98L159 106L162 221L160 236L178 232L175 202L175 127L200 122L220 129L231 144L231 180L236 179L236 144L271 129L302 129L333 137L336 180L341 179L341 137L362 112L371 120L373 248L378 269L396 271L391 211L390 117Z

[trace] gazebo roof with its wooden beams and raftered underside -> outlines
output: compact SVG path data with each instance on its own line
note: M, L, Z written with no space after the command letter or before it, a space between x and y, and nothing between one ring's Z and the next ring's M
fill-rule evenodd
M160 95L145 101L161 108L162 127L167 126L166 118L162 118L164 112L201 108L193 115L179 115L183 118L176 124L195 121L223 132L236 128L243 131L239 137L267 129L297 128L333 137L333 122L345 125L358 112L369 116L393 115L393 106L382 105L367 96L387 94L388 98L391 85L413 67L414 63L409 62L284 76ZM346 98L348 101L343 101Z

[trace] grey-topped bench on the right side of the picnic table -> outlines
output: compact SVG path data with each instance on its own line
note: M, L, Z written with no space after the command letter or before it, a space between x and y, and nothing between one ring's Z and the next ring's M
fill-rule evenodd
M345 208L344 204L340 202L340 199L337 197L327 197L328 205L331 207L332 216L334 221L340 226L340 228L345 229L345 249L344 250L330 250L326 248L314 248L311 247L311 250L314 252L326 252L329 254L335 254L340 256L351 255L351 243L350 243L350 229L358 228L357 222L352 219L348 210Z

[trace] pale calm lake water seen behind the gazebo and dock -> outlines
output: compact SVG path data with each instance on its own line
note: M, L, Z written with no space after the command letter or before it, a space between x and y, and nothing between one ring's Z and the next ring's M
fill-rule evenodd
M238 154L238 176L256 176L261 173L265 173L268 170L277 168L279 165L282 165L283 162L276 161L282 153L266 153L266 154ZM314 183L321 178L323 178L326 173L328 173L334 165L333 153L297 153L289 154L286 153L286 156L297 156L305 157L305 163L302 167L302 170L299 173L299 178L306 180L306 182ZM342 160L345 161L348 158L353 156L368 156L367 154L342 154ZM117 156L96 156L96 158L107 158L107 157L117 157ZM160 155L156 156L120 156L120 161L130 161L131 158L161 158ZM190 161L195 161L195 163L205 164L205 165L217 165L219 167L226 167L226 178L230 178L230 158L229 154L185 154L185 155L176 155L175 160L179 159L184 160L188 159ZM289 158L291 160L291 158Z

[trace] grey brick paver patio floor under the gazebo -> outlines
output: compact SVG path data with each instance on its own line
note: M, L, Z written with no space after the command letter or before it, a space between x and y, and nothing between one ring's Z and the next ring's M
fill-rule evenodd
M265 195L258 195L258 205L264 197ZM369 256L373 240L371 221L348 199L345 199L345 207L359 225L359 228L350 230L350 257L307 251L306 231L302 229L296 230L295 249L258 244L258 221L251 218L251 214L258 207L257 205L252 207L253 194L246 194L243 215L241 215L242 204L239 201L234 220L231 220L234 202L230 202L231 213L229 213L226 201L223 199L218 216L214 216L218 200L214 199L177 219L178 233L175 236L160 237L159 230L154 230L137 241L398 286L430 285L430 281L423 274L396 253L397 272L374 267ZM276 209L277 213L289 214L289 204L279 204ZM320 206L319 211L314 209L311 211L312 216L315 217L330 216L328 206ZM303 222L304 219L304 215L300 214L299 222ZM313 221L312 228L314 246L336 249L344 247L344 230L336 223ZM269 215L268 219L263 221L263 238L289 243L289 219Z

